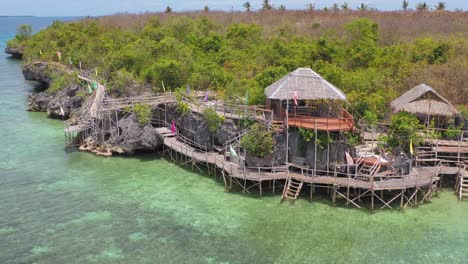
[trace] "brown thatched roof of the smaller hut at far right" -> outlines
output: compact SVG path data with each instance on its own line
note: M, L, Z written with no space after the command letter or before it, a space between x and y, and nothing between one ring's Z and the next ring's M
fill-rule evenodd
M448 117L460 114L447 99L425 84L420 84L393 100L391 106L394 112Z

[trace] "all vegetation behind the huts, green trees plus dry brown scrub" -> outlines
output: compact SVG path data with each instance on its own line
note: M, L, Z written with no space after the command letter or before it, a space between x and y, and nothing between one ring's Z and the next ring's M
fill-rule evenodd
M244 7L250 10L250 3ZM170 15L55 22L32 36L22 28L10 45L24 47L25 60L57 61L61 51L85 69L98 67L116 96L189 84L228 101L244 101L248 92L249 104L264 104L266 86L311 67L347 94L356 118L372 123L387 114L392 99L421 82L455 104L466 103L468 76L459 69L468 67L468 30L458 26L465 17L352 11L344 4L329 10L281 11L276 19L279 11L264 1L263 11L239 12L226 22L217 11L186 16L168 7Z

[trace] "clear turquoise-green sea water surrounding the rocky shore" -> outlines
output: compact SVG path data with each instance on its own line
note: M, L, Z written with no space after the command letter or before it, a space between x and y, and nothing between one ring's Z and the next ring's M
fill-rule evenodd
M0 48L52 20L0 18ZM0 263L467 262L468 202L450 190L375 214L227 193L157 155L65 152L61 121L25 111L33 89L2 53Z

